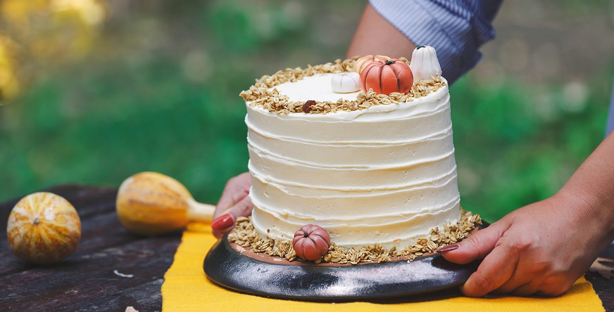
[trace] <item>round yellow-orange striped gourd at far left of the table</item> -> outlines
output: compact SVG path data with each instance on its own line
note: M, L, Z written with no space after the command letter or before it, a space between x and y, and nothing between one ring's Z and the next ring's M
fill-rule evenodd
M58 262L77 248L81 221L68 200L53 193L30 194L15 205L6 228L10 249L38 264Z

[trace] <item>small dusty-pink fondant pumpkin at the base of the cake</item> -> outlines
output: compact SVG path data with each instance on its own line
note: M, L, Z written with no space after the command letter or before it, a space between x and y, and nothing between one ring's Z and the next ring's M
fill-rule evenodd
M303 225L294 233L292 246L301 259L317 260L328 252L330 235L319 225Z

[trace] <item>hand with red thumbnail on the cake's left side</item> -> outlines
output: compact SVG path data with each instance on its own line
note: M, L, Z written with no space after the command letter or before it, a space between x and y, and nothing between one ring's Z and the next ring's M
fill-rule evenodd
M252 201L247 196L251 186L252 180L249 172L241 173L226 183L222 197L217 202L216 212L213 214L213 222L211 222L213 235L217 238L222 237L235 227L237 217L252 214L254 205L252 205Z

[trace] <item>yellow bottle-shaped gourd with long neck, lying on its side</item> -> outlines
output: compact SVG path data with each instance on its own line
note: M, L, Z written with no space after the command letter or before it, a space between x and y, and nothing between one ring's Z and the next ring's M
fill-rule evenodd
M176 179L155 172L123 181L115 206L123 226L138 235L174 232L190 220L210 223L215 211L215 206L196 202Z

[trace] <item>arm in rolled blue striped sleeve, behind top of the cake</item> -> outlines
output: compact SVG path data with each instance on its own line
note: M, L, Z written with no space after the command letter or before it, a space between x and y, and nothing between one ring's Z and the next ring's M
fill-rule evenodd
M494 38L492 19L501 1L369 0L347 55L410 58L414 44L431 45L452 85Z

